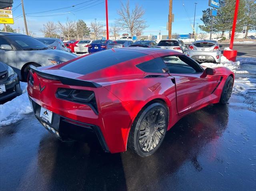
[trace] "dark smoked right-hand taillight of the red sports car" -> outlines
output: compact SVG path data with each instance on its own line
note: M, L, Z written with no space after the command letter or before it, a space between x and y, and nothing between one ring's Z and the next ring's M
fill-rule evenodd
M96 114L98 113L96 98L93 91L58 88L56 97L80 104L86 104L90 106Z

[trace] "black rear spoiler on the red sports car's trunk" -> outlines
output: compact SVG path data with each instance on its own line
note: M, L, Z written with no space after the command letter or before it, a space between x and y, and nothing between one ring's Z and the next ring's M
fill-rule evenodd
M55 80L55 81L61 81L64 85L70 85L70 86L84 86L84 87L92 87L92 88L98 88L102 87L100 84L92 82L92 81L85 81L75 78L68 78L63 76L58 76L54 74L46 73L42 70L39 70L37 67L30 65L30 69L32 73L37 73L40 77L43 77L45 79Z

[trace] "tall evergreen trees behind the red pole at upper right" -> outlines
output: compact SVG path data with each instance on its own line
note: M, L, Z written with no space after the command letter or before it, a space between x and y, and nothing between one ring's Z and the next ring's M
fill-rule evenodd
M220 0L220 8L218 8L217 16L214 17L212 32L221 32L223 37L225 32L232 32L234 7L236 0ZM203 25L199 25L199 28L205 32L210 32L212 24L212 16L210 16L210 8L203 10L202 22ZM248 35L248 31L256 30L256 1L255 0L240 0L238 19L236 23L236 32L242 32L243 27L246 26L247 30L245 38Z

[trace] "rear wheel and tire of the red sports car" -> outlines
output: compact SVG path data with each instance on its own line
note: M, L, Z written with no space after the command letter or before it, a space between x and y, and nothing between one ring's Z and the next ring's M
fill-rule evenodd
M152 103L143 108L132 124L128 147L141 157L147 157L160 147L168 126L168 111L164 104Z

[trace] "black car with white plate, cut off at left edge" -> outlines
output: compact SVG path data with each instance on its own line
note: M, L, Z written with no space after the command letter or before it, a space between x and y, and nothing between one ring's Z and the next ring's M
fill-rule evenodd
M0 62L0 101L22 93L20 79L12 67Z

